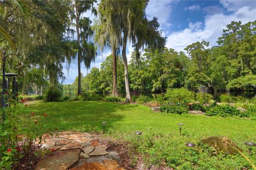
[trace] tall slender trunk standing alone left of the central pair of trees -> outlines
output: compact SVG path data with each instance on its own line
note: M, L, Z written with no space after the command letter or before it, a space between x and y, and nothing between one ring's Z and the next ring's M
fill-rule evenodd
M80 48L80 34L79 34L79 13L76 7L76 34L77 34L77 66L78 66L78 82L77 82L77 96L81 95L81 48Z

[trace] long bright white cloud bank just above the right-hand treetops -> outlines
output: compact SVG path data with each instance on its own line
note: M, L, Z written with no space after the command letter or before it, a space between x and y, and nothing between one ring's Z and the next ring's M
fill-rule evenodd
M254 21L256 9L251 9L249 6L239 8L236 12L230 15L212 14L207 15L204 20L205 27L193 31L195 24L191 23L189 28L182 31L172 32L167 37L167 48L174 48L175 50L184 51L184 48L196 41L206 40L210 42L210 46L217 45L218 37L222 35L222 29L231 21L242 21L246 23Z

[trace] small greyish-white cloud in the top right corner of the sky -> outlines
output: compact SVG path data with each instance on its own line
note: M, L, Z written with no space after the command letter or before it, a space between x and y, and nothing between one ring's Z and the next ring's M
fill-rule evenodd
M236 11L241 7L249 6L250 8L256 7L256 1L230 1L230 0L220 0L220 3L227 8L228 11Z

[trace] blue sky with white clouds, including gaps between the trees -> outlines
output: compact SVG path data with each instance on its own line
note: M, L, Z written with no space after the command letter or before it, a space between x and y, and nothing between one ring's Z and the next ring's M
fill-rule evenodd
M146 8L149 19L156 16L161 24L163 36L167 37L166 47L178 52L196 41L206 40L210 46L215 46L222 29L231 21L246 23L256 20L256 1L157 1L151 0ZM94 16L87 12L85 16L93 20ZM127 47L127 58L130 59L133 48ZM106 48L98 52L95 63L91 67L100 67L105 58L110 55ZM66 80L63 84L73 83L77 77L77 61L73 61L69 71L63 69ZM65 67L65 66L64 66ZM66 67L65 67L66 68ZM82 64L83 75L87 70ZM90 72L90 70L89 70Z

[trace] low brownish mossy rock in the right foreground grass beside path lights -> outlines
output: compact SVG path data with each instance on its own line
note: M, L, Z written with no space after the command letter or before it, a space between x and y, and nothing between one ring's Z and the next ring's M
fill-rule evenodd
M238 150L242 151L233 141L227 137L209 137L203 139L202 142L206 145L213 147L217 152L225 152L226 154L238 154ZM236 149L232 148L235 147Z

